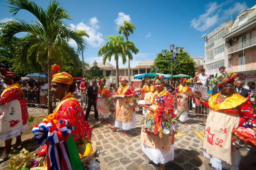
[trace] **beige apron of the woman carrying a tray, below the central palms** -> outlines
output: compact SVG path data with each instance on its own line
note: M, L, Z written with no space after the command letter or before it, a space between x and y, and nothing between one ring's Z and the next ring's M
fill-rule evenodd
M133 107L129 104L128 97L118 97L116 102L115 118L117 121L132 122Z

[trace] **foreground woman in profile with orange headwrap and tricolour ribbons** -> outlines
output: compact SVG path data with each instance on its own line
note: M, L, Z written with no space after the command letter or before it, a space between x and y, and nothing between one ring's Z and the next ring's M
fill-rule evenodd
M73 77L60 73L58 65L52 65L52 73L51 92L60 102L52 114L33 127L34 138L41 146L47 145L48 170L82 170L75 140L88 139L92 129L72 94L76 88Z

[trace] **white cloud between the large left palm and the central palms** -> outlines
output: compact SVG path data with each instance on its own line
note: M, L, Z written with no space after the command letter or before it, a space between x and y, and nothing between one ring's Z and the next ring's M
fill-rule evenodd
M83 22L80 22L77 25L70 24L70 27L77 30L84 30L89 35L89 38L84 36L84 39L86 42L91 45L92 47L100 47L104 44L104 39L102 38L103 35L98 31L100 28L98 23L98 19L96 17L93 17L89 20L89 25L84 24ZM74 41L70 41L69 44L72 47L77 48L76 43Z

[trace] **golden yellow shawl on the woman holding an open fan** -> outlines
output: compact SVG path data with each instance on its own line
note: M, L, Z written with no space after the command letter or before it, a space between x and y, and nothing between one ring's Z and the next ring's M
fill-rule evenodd
M240 94L233 93L230 96L228 96L225 100L223 100L221 103L218 104L216 101L219 94L220 93L217 93L208 99L208 105L214 111L235 108L236 106L239 106L242 103L244 103L246 100L248 100L248 98L245 98Z

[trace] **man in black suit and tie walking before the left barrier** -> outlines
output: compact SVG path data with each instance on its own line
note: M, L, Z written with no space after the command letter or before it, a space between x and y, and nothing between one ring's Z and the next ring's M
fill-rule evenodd
M88 99L87 110L86 110L85 117L84 117L85 120L88 120L92 105L94 106L95 120L98 120L98 111L97 111L96 102L95 102L96 97L97 97L97 93L98 93L98 88L99 87L97 86L97 81L93 80L92 85L89 86L88 89L87 89L87 96L88 96L89 99Z

